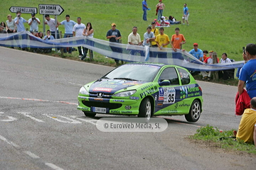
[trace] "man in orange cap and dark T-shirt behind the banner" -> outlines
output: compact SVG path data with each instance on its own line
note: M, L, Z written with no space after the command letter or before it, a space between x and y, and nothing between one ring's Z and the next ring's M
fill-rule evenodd
M116 29L117 25L115 23L111 24L111 29L107 31L106 38L110 39L110 42L119 43L119 40L122 38L122 35L119 30ZM122 53L122 48L120 47L112 47L110 45L112 52L119 52ZM114 62L119 64L119 60L114 59Z

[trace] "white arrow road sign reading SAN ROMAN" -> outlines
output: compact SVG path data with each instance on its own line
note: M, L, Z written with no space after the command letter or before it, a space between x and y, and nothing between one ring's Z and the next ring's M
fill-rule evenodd
M54 16L60 16L61 13L63 13L64 9L60 5L53 5L53 4L39 4L38 5L39 14L43 15L54 15Z

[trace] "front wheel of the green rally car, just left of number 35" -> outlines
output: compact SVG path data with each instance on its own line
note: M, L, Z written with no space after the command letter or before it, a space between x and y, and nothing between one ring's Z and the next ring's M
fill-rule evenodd
M146 120L150 120L151 117L151 102L149 98L144 98L141 105L139 106L139 118L146 118Z

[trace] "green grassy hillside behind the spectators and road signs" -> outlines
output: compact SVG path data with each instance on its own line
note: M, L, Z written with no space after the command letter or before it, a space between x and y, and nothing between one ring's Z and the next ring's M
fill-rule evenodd
M183 4L187 3L190 16L190 26L181 26L181 33L185 36L187 43L183 49L191 50L193 43L198 42L201 50L213 50L218 53L218 57L223 52L228 53L228 57L236 61L242 60L242 47L247 43L255 43L255 7L254 0L191 0L191 1L163 1L166 5L165 16L175 16L181 20ZM232 2L232 3L231 3ZM80 16L82 23L91 22L95 29L95 38L106 40L107 30L111 23L117 24L117 29L122 33L122 42L127 43L127 37L132 32L132 27L138 27L138 33L143 36L146 27L156 18L155 6L157 0L149 0L147 4L151 11L148 11L148 21L142 20L142 0L70 0L70 1L14 1L1 0L1 21L6 21L6 16L11 13L11 6L37 7L38 4L59 4L64 8L58 21L63 21L66 14L70 14L70 19L76 21ZM11 13L15 16L15 13ZM30 18L30 14L23 13L23 18ZM36 15L41 21L43 16ZM177 26L177 25L176 25ZM165 33L171 37L174 28L171 26L165 29ZM26 24L26 28L28 25ZM64 32L64 26L59 27ZM48 26L46 26L48 29ZM41 24L40 30L43 30ZM171 47L169 45L169 47ZM75 54L76 55L76 54Z

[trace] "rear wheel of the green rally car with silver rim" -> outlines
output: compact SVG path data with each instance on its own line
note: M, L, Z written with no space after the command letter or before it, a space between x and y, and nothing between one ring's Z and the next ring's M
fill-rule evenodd
M194 100L189 113L185 115L185 118L188 122L196 122L201 115L201 104L198 100Z

